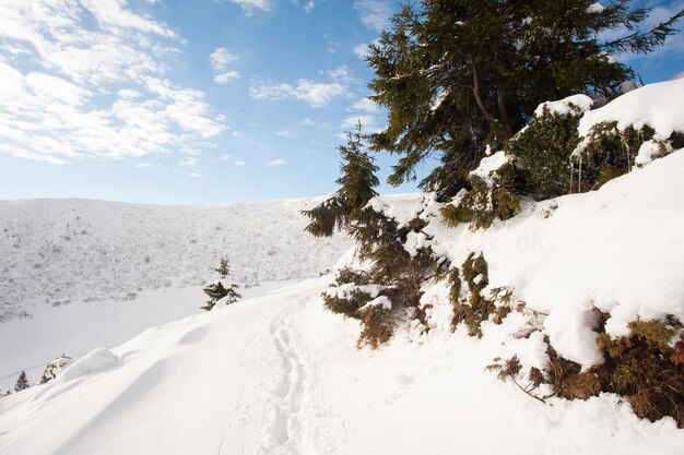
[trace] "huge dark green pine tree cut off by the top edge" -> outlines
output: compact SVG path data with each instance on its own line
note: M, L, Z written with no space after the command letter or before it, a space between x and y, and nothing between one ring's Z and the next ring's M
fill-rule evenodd
M629 0L424 0L405 5L367 57L372 99L388 127L372 148L399 155L388 181L415 179L417 164L438 153L421 185L448 199L468 185L487 149L498 149L550 99L576 93L610 97L634 77L611 56L644 53L674 33L684 11L644 31L645 9ZM628 33L601 39L606 32Z

